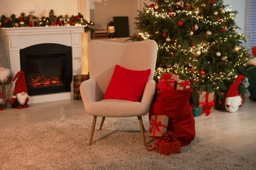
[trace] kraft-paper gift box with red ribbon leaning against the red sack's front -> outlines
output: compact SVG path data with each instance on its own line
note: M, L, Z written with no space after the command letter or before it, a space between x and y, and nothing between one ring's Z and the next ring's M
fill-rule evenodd
M152 115L148 137L161 137L167 131L169 117L165 115Z

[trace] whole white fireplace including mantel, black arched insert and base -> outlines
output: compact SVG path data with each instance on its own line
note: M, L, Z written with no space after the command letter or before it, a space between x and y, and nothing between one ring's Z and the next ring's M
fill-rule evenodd
M26 78L27 85L29 85L29 103L74 98L72 75L81 75L81 65L83 65L82 53L84 51L82 50L81 39L83 27L84 26L0 28L5 41L7 59L12 73L15 75L18 71L22 70L25 73L27 72L26 75L28 75L28 78L31 80L34 80L37 76L41 76L41 79L44 79L40 83L30 86L30 80ZM86 43L85 41L84 39L83 43ZM41 48L42 44L43 48L45 45L48 46L47 48L51 48L51 46L54 47L51 48L50 52L45 52L45 50L41 50L43 49ZM26 59L24 60L22 57L24 50L30 51L31 47L37 47L37 49L32 53L26 54ZM66 49L59 51L59 47ZM86 55L86 53L84 54ZM57 61L48 62L49 59L53 58L56 58ZM71 61L70 58L72 59ZM56 64L52 68L53 70L49 71L48 68L47 70L43 69L45 73L42 72L41 75L38 75L35 70L37 70L38 73L38 70L41 71L42 69L27 68L28 66L35 67L35 65L31 63L37 63L40 67L43 65L42 63L50 64L47 66L48 68L51 64ZM66 65L62 65L62 63ZM32 71L30 69L35 70ZM72 70L71 72L70 69ZM48 75L48 71L54 74ZM65 74L63 74L64 72ZM53 80L47 78L52 78Z

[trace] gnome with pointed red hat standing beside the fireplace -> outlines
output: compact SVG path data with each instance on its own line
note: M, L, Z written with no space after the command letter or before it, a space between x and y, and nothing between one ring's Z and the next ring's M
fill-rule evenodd
M17 79L17 80L16 80ZM16 73L12 81L16 80L14 86L14 92L11 98L12 107L16 109L22 109L29 107L28 105L28 90L26 85L26 80L23 71Z

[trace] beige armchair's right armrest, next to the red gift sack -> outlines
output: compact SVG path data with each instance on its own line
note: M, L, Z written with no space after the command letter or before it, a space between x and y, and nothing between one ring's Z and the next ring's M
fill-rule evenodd
M152 79L148 80L144 88L141 103L146 103L147 105L150 106L155 92L156 92L156 81Z

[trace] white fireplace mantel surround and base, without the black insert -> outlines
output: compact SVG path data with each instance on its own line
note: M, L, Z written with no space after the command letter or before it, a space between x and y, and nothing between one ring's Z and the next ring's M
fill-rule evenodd
M12 73L20 71L20 49L35 44L55 43L71 46L73 75L81 75L81 33L84 26L1 28ZM30 103L71 99L72 92L33 95Z

